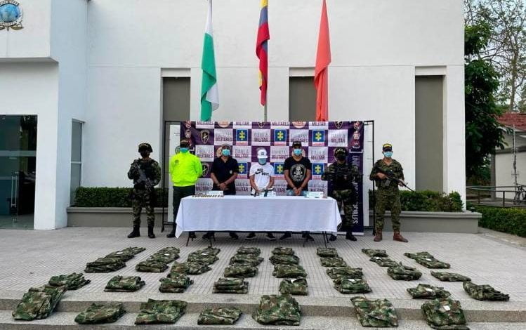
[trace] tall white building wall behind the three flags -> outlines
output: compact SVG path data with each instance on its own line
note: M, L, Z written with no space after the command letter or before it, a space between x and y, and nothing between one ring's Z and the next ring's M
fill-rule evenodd
M213 4L221 100L213 119L263 120L254 53L259 1ZM314 65L321 4L270 1L269 120L288 119L289 68ZM150 0L147 6L141 0L89 1L86 152L118 161L85 161L83 185L131 185L125 170L136 143L159 145L160 69L190 68L190 115L199 119L206 6L187 0ZM445 67L445 190L464 194L462 1L328 0L327 6L329 119L375 120L376 154L381 143L392 142L414 183L415 67Z

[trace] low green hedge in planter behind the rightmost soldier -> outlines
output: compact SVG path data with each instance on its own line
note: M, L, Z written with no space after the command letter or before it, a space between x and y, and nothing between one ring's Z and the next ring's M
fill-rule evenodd
M369 205L373 205L374 194L369 190ZM461 212L462 199L458 192L444 194L423 190L419 192L401 191L402 211L421 212Z

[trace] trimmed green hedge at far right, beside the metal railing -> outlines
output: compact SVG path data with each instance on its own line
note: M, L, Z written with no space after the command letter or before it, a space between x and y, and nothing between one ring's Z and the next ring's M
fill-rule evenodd
M470 206L470 209L482 213L480 227L526 237L526 209L492 206Z

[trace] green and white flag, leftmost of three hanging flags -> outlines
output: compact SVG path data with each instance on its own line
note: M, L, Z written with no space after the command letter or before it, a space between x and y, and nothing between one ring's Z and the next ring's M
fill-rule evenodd
M209 0L208 16L204 29L203 60L201 63L203 80L201 85L201 120L211 121L212 111L219 107L216 57L213 53L212 0Z

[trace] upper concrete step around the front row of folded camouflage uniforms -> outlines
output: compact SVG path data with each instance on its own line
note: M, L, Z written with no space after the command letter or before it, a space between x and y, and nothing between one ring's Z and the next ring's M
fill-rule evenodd
M356 317L354 308L347 297L315 298L295 296L301 306L302 315L308 317ZM20 293L0 292L0 310L13 310L20 301ZM155 300L173 299L186 301L188 313L199 313L204 308L232 306L251 315L258 308L261 296L243 294L192 294L192 293L117 293L117 292L75 292L65 293L57 306L57 312L79 313L93 302L116 301L124 303L128 312L137 313L140 303L148 298ZM401 319L421 320L421 299L390 299ZM519 301L461 301L466 317L471 322L526 322L526 303Z

